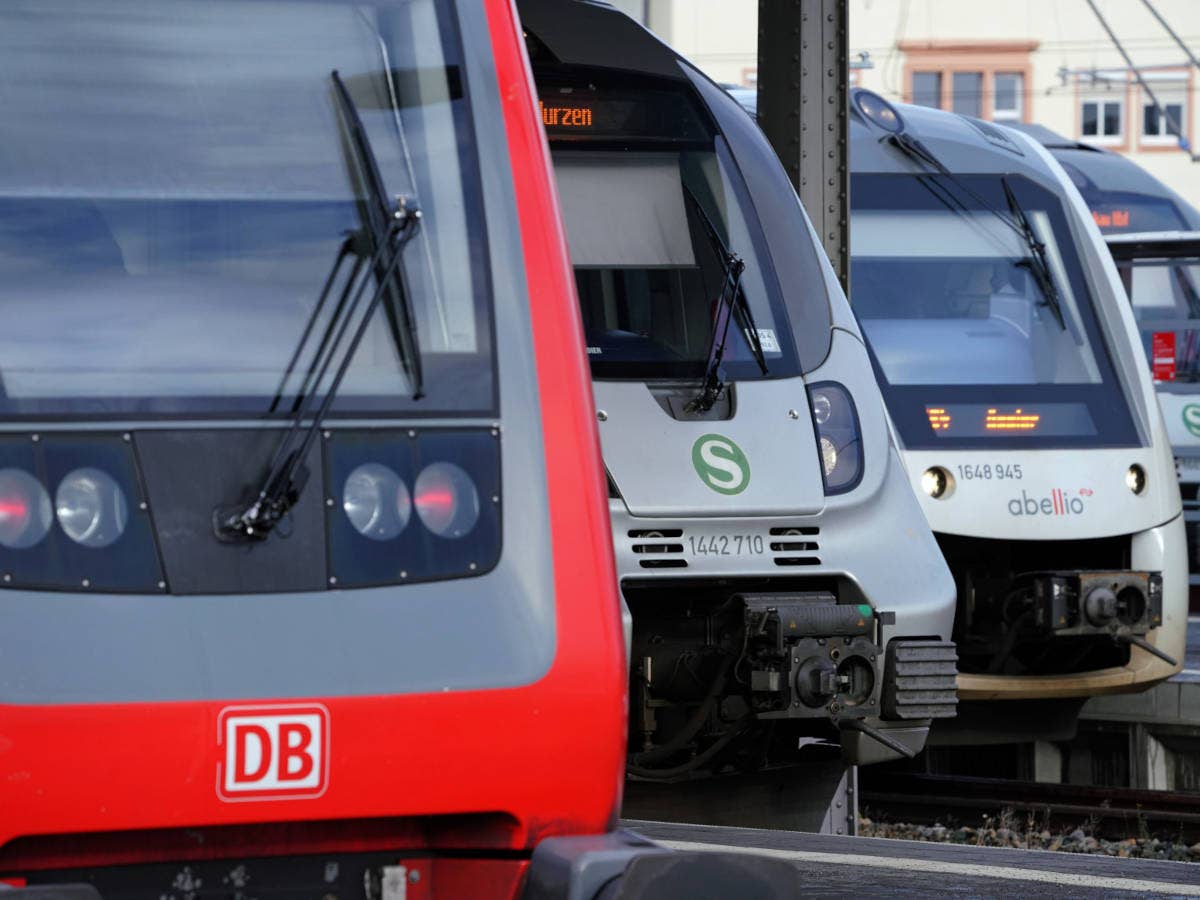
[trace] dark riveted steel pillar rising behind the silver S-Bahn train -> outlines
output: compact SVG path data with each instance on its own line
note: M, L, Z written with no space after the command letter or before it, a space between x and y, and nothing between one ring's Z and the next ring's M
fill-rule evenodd
M758 0L758 124L850 290L847 0Z

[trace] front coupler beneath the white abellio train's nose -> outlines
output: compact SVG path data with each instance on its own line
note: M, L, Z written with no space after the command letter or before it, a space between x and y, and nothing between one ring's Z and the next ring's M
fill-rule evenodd
M1032 628L1048 637L1108 636L1177 665L1146 635L1163 624L1163 575L1147 571L1030 572Z

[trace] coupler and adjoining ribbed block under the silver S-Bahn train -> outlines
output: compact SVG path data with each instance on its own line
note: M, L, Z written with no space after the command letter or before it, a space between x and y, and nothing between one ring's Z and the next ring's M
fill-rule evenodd
M827 592L743 594L751 703L760 719L826 719L868 734L907 757L917 749L872 721L953 716L956 654L952 643L893 640L895 614L838 604ZM918 748L919 749L919 748Z

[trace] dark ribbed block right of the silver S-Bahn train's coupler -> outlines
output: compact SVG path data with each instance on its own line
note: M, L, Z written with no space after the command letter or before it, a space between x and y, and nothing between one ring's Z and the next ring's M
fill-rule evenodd
M958 662L949 641L892 641L883 670L883 718L953 719Z

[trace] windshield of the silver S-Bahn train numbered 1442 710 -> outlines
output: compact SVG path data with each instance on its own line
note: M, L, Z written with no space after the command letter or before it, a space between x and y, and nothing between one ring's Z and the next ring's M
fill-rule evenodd
M745 186L690 89L541 74L538 83L592 373L702 376L732 259L742 269L743 308L751 314L739 313L740 324L728 329L726 376L797 374L779 286ZM749 322L766 372L755 360Z

